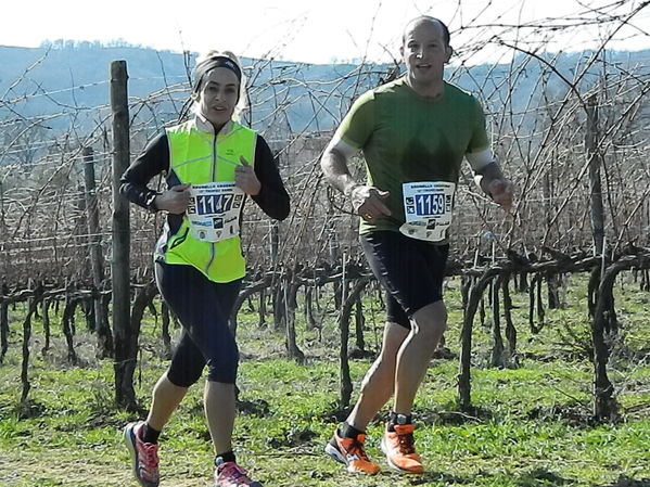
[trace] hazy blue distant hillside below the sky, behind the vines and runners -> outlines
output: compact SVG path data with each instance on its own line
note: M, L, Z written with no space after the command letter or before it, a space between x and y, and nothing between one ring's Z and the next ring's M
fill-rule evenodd
M589 53L544 54L562 76L572 80ZM608 52L608 71L649 72L650 50ZM168 87L187 90L189 68L194 54L186 59L169 51L132 46L58 41L37 48L0 47L0 120L17 117L50 116L44 124L54 131L95 124L98 107L109 104L109 71L114 60L125 60L129 74L129 95L137 101ZM352 98L377 86L391 66L365 66L360 76L355 65L309 65L244 59L250 76L253 121L257 129L292 133L333 127L349 106ZM514 111L545 92L561 97L568 87L538 60L518 55L508 65L479 65L471 68L451 65L448 76L460 87L477 93L489 110L498 111L508 99ZM590 68L582 88L588 88L603 73L602 63ZM343 76L354 74L348 79ZM509 79L509 82L507 81ZM187 91L174 91L156 100L155 125L174 120ZM71 114L74 116L54 116ZM278 126L282 126L278 128Z

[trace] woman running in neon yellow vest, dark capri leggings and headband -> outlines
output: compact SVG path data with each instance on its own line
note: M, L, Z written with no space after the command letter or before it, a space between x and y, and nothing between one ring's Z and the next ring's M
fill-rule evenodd
M204 409L215 450L215 486L260 487L232 451L239 353L228 320L245 274L240 222L251 198L271 218L289 215L289 195L265 140L237 120L245 81L231 52L197 60L191 94L194 116L154 139L122 177L122 193L167 219L154 252L161 295L182 335L169 369L153 389L146 421L124 430L133 473L156 487L158 436L188 388L207 366ZM166 175L167 190L146 187Z

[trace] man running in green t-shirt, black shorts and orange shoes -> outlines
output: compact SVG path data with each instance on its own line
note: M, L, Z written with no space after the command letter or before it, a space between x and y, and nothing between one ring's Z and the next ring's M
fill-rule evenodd
M365 432L391 396L381 449L392 469L423 472L411 407L446 326L447 230L463 157L494 202L506 212L512 203L511 184L489 148L481 104L443 80L453 53L445 24L430 16L409 22L400 53L406 76L362 94L321 159L328 182L352 200L361 217L361 247L387 291L381 354L364 379L355 408L326 447L353 473L380 471L364 450ZM347 167L359 151L365 184Z

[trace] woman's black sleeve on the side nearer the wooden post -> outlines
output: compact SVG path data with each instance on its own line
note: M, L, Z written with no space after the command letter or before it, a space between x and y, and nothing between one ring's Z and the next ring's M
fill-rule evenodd
M152 140L144 152L122 175L119 192L130 202L148 208L156 192L146 187L149 181L169 169L169 144L167 134L162 133Z

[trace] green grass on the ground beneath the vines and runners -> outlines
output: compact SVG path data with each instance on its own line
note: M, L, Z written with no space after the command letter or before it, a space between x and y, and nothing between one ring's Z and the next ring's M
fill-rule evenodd
M586 283L574 281L568 295L571 306L547 310L547 323L537 335L528 331L527 296L513 294L519 307L514 310L519 356L509 368L488 367L489 312L486 326L476 319L472 370L476 410L472 414L461 414L456 406L457 360L432 362L415 408L417 445L428 466L421 477L399 476L387 467L375 477L351 477L322 453L340 413L335 313L322 316L321 333L305 330L297 315L298 345L307 356L307 363L298 366L283 357L281 332L259 328L256 313L243 312L239 387L245 407L234 432L241 462L267 486L649 487L650 299L630 282L623 290L617 286L622 331L609 373L623 420L595 424L590 421L592 367L576 345L588 339ZM458 354L462 319L458 282L453 280L447 287L447 346ZM367 310L370 305L367 297ZM377 310L379 304L372 307ZM53 347L44 357L39 353L41 325L35 322L33 388L28 405L17 406L22 312L21 306L11 311L10 351L0 366L0 486L136 485L120 430L137 415L114 408L113 366L94 358L94 337L80 318L81 367L76 368L65 361L59 318L52 320ZM367 312L369 348L375 347L375 336L381 337L382 321L381 313L373 319ZM161 356L160 324L148 317L136 373L143 410L166 368ZM351 362L355 390L369 363L369 359ZM163 487L209 485L212 450L201 395L197 384L163 432ZM380 461L381 420L368 432L369 453Z

